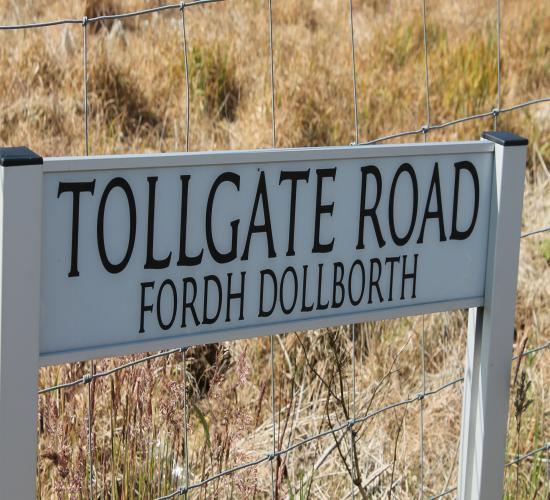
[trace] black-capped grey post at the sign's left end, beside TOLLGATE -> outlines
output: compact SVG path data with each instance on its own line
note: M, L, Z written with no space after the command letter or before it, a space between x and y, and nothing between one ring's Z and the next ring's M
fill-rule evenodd
M42 158L0 148L0 497L35 498Z

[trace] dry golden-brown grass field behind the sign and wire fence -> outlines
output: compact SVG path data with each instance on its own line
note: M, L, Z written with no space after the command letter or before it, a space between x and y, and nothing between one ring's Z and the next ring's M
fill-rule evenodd
M0 0L2 23L90 17L156 4ZM420 7L421 2L404 0L355 2L361 140L425 122ZM192 150L271 145L266 9L265 1L227 0L187 11ZM503 9L503 105L550 94L550 4L509 0ZM494 107L494 2L432 0L428 16L433 121ZM348 2L275 1L274 37L278 145L353 141ZM177 11L98 25L90 30L89 43L91 151L182 150L185 88ZM26 144L43 155L82 154L82 55L79 26L0 33L2 144ZM500 120L502 128L530 138L524 226L548 225L550 108L533 107ZM470 122L432 132L430 138L472 139L491 125L490 119ZM550 338L549 241L542 235L522 243L516 351ZM462 374L465 313L427 317L425 327L431 388ZM361 326L357 414L420 391L421 331L422 318ZM345 327L277 338L280 446L345 420L351 411L350 352ZM271 449L268 360L269 341L263 338L190 352L192 481ZM549 440L549 361L550 352L544 351L520 366L512 387L508 457ZM101 360L96 369L121 362ZM43 369L40 385L73 380L89 370L90 363ZM91 389L97 496L153 498L183 484L181 355L97 380ZM425 400L426 495L456 483L461 390L456 385ZM401 407L358 427L358 468L368 497L418 495L418 409L418 403ZM86 414L86 388L40 398L37 484L42 498L87 497ZM279 461L280 496L345 497L349 463L334 443L328 436ZM346 436L341 443L345 457ZM510 468L507 495L547 497L547 467L548 458L537 457ZM263 498L270 492L267 464L191 496Z

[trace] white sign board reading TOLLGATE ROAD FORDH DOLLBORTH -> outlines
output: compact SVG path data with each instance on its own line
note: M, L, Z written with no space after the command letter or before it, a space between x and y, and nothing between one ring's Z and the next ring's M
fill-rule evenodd
M41 362L480 306L493 151L45 159Z

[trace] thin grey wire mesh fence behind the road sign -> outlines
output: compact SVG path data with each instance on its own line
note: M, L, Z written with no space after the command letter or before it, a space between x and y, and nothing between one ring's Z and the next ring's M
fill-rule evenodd
M47 28L52 26L59 26L59 25L81 25L83 27L83 67L84 67L84 81L83 81L83 109L84 109L84 129L85 129L85 153L89 153L89 139L88 139L88 71L87 71L87 58L88 58L88 43L87 43L87 31L88 26L90 24L99 23L102 21L108 21L108 20L116 20L116 19L126 19L131 17L140 17L145 15L150 15L153 13L159 13L164 11L180 11L181 12L181 27L182 27L182 44L183 44L183 51L184 51L184 72L185 72L185 119L186 119L186 128L185 128L185 145L186 150L189 151L189 134L190 134L190 81L189 81L189 68L188 68L188 42L187 42L187 34L186 34L186 26L185 26L185 10L188 7L193 6L200 6L200 5L206 5L210 3L219 3L223 2L224 0L194 0L191 2L179 2L179 3L173 3L173 4L167 4L167 5L159 5L157 7L148 8L148 9L142 9L137 10L133 12L126 12L126 13L119 13L119 14L111 14L111 15L101 15L97 17L84 17L82 19L76 19L76 18L68 18L68 19L58 19L58 20L52 20L52 21L37 21L37 22L30 22L26 24L14 24L14 25L2 25L0 26L0 30L27 30L27 29L41 29L41 28ZM268 7L268 21L269 21L269 67L268 71L271 77L271 119L272 119L272 146L275 148L277 147L277 135L276 135L276 66L275 66L275 58L274 58L274 45L273 45L273 39L274 39L274 29L273 29L273 9L272 9L272 0L267 0L267 7ZM422 24L423 24L423 44L424 44L424 75L423 75L423 84L425 86L425 97L426 97L426 122L422 126L413 129L413 130L405 130L405 131L398 131L395 133L389 133L387 135L380 136L375 139L370 139L365 142L360 142L359 137L359 131L360 131L360 123L359 123L359 113L358 113L358 90L357 90L357 68L356 68L356 61L355 61L355 54L356 54L356 47L355 47L355 35L354 35L354 20L353 20L353 0L349 0L349 23L350 23L350 40L351 40L351 59L352 59L352 83L353 83L353 98L354 98L354 136L355 136L355 142L354 144L362 144L362 145L369 145L369 144L376 144L379 142L392 140L392 139L398 139L402 137L410 137L410 136L418 136L423 135L424 140L426 140L427 134L430 131L435 130L442 130L449 127L453 127L465 122L473 121L473 120L480 120L485 119L489 117L493 117L494 120L494 127L497 128L497 120L498 117L501 114L514 112L520 109L524 109L530 106L539 105L543 103L550 102L550 96L542 96L540 98L531 99L527 101L520 102L518 104L515 104L513 106L509 107L501 107L501 93L502 93L502 83L501 83L501 7L500 7L500 0L496 0L496 36L497 36L497 92L496 92L496 107L487 110L481 113L472 114L468 116L464 116L461 118L455 118L453 120L442 122L442 123L436 123L432 124L431 122L431 109L430 109L430 79L429 79L429 40L428 40L428 31L427 31L427 12L426 12L426 0L422 0ZM537 234L545 233L550 231L550 226L548 227L542 227L539 229L531 230L525 234L522 234L522 238L531 237ZM272 378L271 378L271 399L272 399L272 433L273 433L273 449L270 453L267 453L266 455L249 462L241 463L235 467L228 468L225 470L220 471L217 474L213 474L207 478L202 479L201 481L197 481L194 483L190 483L190 472L189 472L189 450L187 449L187 425L188 425L188 418L189 418L189 412L188 412L188 401L187 401L187 366L186 366L186 347L178 348L178 349L170 349L166 351L161 351L156 354L151 354L145 357L141 357L139 359L135 359L133 361L130 361L128 363L121 364L119 366L113 367L108 370L96 372L94 370L94 367L92 365L90 373L87 373L83 375L81 378L60 383L57 385L53 385L50 387L46 387L38 391L38 394L43 396L47 394L51 394L53 392L66 390L70 388L74 388L77 386L86 386L88 388L88 453L89 453L89 494L90 497L93 497L94 491L93 491L93 484L94 484L94 471L93 471L93 450L92 450L92 432L93 432L93 395L92 395L92 382L94 382L97 379L109 377L121 370L130 369L132 367L135 367L137 365L140 365L142 363L147 363L151 360L161 358L161 357L167 357L174 353L182 353L182 370L183 370L183 405L184 405L184 427L185 427L185 484L178 488L177 490L173 491L172 493L159 497L159 500L161 499L170 499L175 498L178 496L184 496L186 497L187 494L193 490L199 489L201 487L204 487L208 485L209 483L219 480L223 477L235 474L238 471L242 471L245 469L249 469L252 467L257 467L264 463L270 463L271 464L271 473L272 473L272 497L276 498L276 481L277 478L275 477L275 470L276 467L274 466L275 461L284 455L287 455L291 453L292 451L303 447L307 445L308 443L311 443L313 441L325 438L330 435L336 435L338 433L342 432L349 432L350 434L350 442L353 443L354 439L354 427L358 424L364 423L368 420L373 419L377 415L383 414L387 411L390 411L392 409L408 406L411 404L419 403L420 407L420 463L421 463L421 484L420 484L420 492L421 496L424 494L424 444L423 444L423 434L424 434L424 425L423 425L423 405L425 398L435 396L442 391L453 387L455 385L458 385L463 382L463 377L456 378L453 380L450 380L436 388L433 389L427 389L426 388L426 372L424 367L424 319L422 321L423 327L422 327L422 380L421 380L421 392L412 395L408 397L407 399L403 399L400 401L395 401L391 404L388 404L386 406L380 407L376 410L372 410L367 412L364 415L357 415L356 414L356 394L355 394L355 326L352 325L352 331L353 331L353 353L352 353L352 373L353 373L353 395L352 395L352 412L351 412L351 418L347 421L337 425L337 426L331 426L330 429L327 429L325 431L309 435L305 438L300 439L299 441L287 446L286 448L278 447L277 440L276 440L276 408L275 408L275 374L274 374L274 360L273 360L273 337L271 337L271 370L272 370ZM531 356L536 355L542 351L545 351L547 349L550 349L550 341L547 341L544 344L541 344L539 346L533 347L531 349L525 350L521 352L520 354L517 354L514 356L514 360L517 361L525 356ZM351 445L350 445L350 452L351 452ZM511 467L514 465L518 465L522 463L525 460L532 459L533 457L537 456L540 453L548 452L550 450L550 443L546 443L545 445L533 449L524 455L516 456L511 461L506 463L506 467ZM351 484L351 496L354 495L354 476L358 473L358 471L355 471L353 469L353 460L352 460L352 484ZM436 498L442 498L447 495L450 495L452 493L455 493L457 490L457 487L449 488L437 496L432 497L433 499Z

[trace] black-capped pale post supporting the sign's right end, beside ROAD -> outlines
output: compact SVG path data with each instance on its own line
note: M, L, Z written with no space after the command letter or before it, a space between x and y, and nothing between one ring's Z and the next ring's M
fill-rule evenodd
M484 307L470 309L460 441L460 499L501 499L527 139L495 143Z

